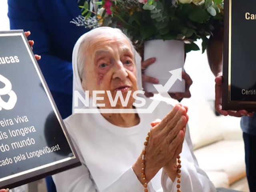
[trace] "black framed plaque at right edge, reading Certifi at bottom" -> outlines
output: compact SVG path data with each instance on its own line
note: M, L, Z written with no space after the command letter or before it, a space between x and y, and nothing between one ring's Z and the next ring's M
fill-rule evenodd
M224 110L256 111L255 7L252 0L224 0Z

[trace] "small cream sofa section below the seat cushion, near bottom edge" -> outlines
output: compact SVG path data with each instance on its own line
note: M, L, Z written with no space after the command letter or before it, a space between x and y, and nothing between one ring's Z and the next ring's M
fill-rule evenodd
M229 188L228 175L225 172L207 171L206 174L216 188Z

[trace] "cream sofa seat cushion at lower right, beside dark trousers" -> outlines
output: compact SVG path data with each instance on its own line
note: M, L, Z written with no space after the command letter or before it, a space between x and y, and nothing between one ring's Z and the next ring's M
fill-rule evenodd
M194 151L204 171L225 172L229 184L246 176L243 141L219 141Z

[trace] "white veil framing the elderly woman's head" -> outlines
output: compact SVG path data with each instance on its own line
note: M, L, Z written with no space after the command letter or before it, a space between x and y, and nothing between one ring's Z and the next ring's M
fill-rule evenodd
M90 32L87 32L83 34L78 41L76 42L73 50L73 55L72 55L72 65L73 65L73 105L72 105L72 114L74 113L75 108L83 108L84 105L82 102L78 102L78 107L74 106L74 92L78 91L80 95L84 96L84 90L82 88L82 82L81 78L79 76L79 70L78 70L78 53L79 49L82 45L82 42L86 40L86 38L90 38L92 36L95 36L100 33L106 32L106 30L112 30L113 34L116 32L122 33L121 30L117 28L110 28L110 27L99 27L94 30L91 30ZM129 40L130 41L130 40ZM134 47L132 46L133 52L134 52L134 58L135 58L135 63L136 63L136 68L137 68L137 82L138 82L138 89L142 90L142 76L141 76L141 57L140 55L136 52ZM86 60L85 60L86 61ZM83 74L84 75L84 74Z

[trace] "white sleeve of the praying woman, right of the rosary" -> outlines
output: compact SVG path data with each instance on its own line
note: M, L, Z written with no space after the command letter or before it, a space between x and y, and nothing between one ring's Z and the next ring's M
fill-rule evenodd
M186 137L181 154L181 178L180 190L189 192L216 192L216 188L209 180L206 173L199 168L196 157L193 153L193 146L190 139L189 128L186 128ZM176 192L178 178L172 182L168 175L162 172L163 192Z

